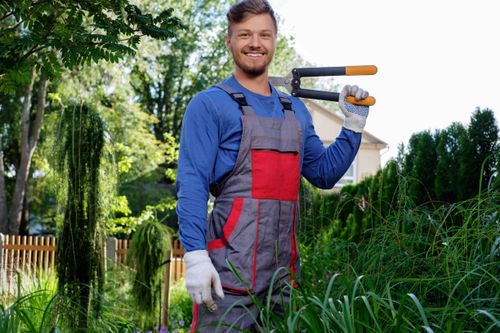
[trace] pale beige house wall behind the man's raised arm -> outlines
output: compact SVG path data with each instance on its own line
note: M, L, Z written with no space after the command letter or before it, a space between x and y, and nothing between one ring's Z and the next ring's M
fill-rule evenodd
M343 115L338 115L313 100L303 99L303 101L311 113L316 133L325 146L330 145L335 141L335 138L342 129L342 124L344 123ZM381 150L387 147L386 142L364 131L361 139L361 147L354 162L335 187L357 183L367 176L374 175L381 167Z

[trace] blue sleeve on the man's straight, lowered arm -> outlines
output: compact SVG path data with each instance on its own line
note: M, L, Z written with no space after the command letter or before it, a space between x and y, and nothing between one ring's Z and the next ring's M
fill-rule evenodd
M207 247L207 202L218 138L215 108L210 99L195 96L182 122L176 183L179 236L186 251Z

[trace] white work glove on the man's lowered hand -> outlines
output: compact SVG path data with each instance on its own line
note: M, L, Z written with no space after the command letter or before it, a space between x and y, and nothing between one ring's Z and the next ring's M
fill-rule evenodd
M215 270L207 250L195 250L184 254L186 264L186 289L196 304L205 303L210 311L217 306L212 299L212 287L215 294L224 298L219 273Z

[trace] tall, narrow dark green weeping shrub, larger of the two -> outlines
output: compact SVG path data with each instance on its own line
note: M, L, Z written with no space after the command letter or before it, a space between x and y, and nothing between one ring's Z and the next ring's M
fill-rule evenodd
M67 199L57 249L59 293L80 311L66 313L74 328L86 328L93 288L99 278L99 168L104 146L102 119L87 105L71 105L62 115L55 147ZM98 309L99 305L93 306ZM73 317L74 316L74 317Z

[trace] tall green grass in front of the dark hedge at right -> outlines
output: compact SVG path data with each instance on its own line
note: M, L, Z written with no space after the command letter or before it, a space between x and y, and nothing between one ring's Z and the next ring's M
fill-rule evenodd
M356 285L363 276L358 290L366 292L366 299L360 296L358 302L365 308L358 310L366 312L366 322L351 320L364 327L356 332L500 329L500 194L486 191L457 204L415 206L405 193L403 183L394 209L387 217L378 212L382 222L360 242L332 238L331 224L314 242L302 244L304 288L313 295L326 290L337 303L352 304L356 296L345 297L347 281ZM339 277L343 283L332 282ZM395 304L400 315L395 316ZM346 313L341 307L332 310ZM398 316L404 327L394 320Z

